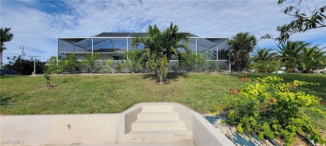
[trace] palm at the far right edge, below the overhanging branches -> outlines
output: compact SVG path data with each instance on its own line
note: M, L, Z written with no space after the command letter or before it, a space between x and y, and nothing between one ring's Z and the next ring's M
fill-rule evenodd
M318 48L318 45L312 48L303 48L302 53L300 54L300 62L301 67L304 69L304 73L312 73L310 69L325 65L324 53L326 52L321 51L321 49Z

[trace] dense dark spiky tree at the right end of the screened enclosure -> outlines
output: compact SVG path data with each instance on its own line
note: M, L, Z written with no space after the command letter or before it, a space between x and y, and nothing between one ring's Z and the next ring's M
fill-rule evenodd
M257 39L249 32L240 32L232 36L228 41L231 69L233 71L245 71L249 65L249 53L257 45Z

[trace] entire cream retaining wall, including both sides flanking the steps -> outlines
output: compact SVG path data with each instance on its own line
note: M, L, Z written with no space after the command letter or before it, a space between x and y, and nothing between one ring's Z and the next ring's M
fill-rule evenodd
M200 114L178 103L139 103L121 114L0 116L0 139L23 145L130 142L134 138L125 133L144 105L172 105L193 131L196 145L234 145Z

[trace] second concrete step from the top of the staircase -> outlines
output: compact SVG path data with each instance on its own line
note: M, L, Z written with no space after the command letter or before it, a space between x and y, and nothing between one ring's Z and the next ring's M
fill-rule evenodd
M179 119L178 113L173 111L156 111L156 112L141 112L137 115L137 120L167 120Z

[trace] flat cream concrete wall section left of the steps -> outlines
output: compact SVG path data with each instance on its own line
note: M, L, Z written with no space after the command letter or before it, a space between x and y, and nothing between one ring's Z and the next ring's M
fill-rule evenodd
M116 142L120 117L120 114L1 116L1 141L23 140L26 145Z

